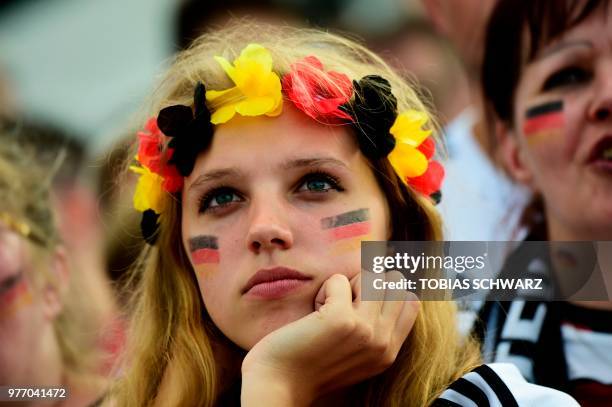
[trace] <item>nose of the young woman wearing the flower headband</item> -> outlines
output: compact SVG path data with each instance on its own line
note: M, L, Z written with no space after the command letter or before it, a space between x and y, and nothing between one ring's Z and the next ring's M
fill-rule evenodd
M293 246L293 234L282 205L274 205L269 199L266 203L252 203L247 246L255 254Z

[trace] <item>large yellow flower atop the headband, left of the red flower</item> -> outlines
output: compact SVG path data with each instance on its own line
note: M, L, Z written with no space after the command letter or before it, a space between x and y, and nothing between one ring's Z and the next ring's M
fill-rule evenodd
M232 66L225 58L215 57L236 86L206 92L214 113L213 124L225 123L239 113L242 116L278 116L283 108L281 82L272 72L272 56L259 44L249 44Z

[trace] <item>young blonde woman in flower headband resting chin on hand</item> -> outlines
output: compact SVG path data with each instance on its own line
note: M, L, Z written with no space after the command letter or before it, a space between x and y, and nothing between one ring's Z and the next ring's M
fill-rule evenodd
M451 302L361 300L362 240L441 239L430 115L378 57L236 25L180 54L154 100L114 404L576 405L481 365Z

